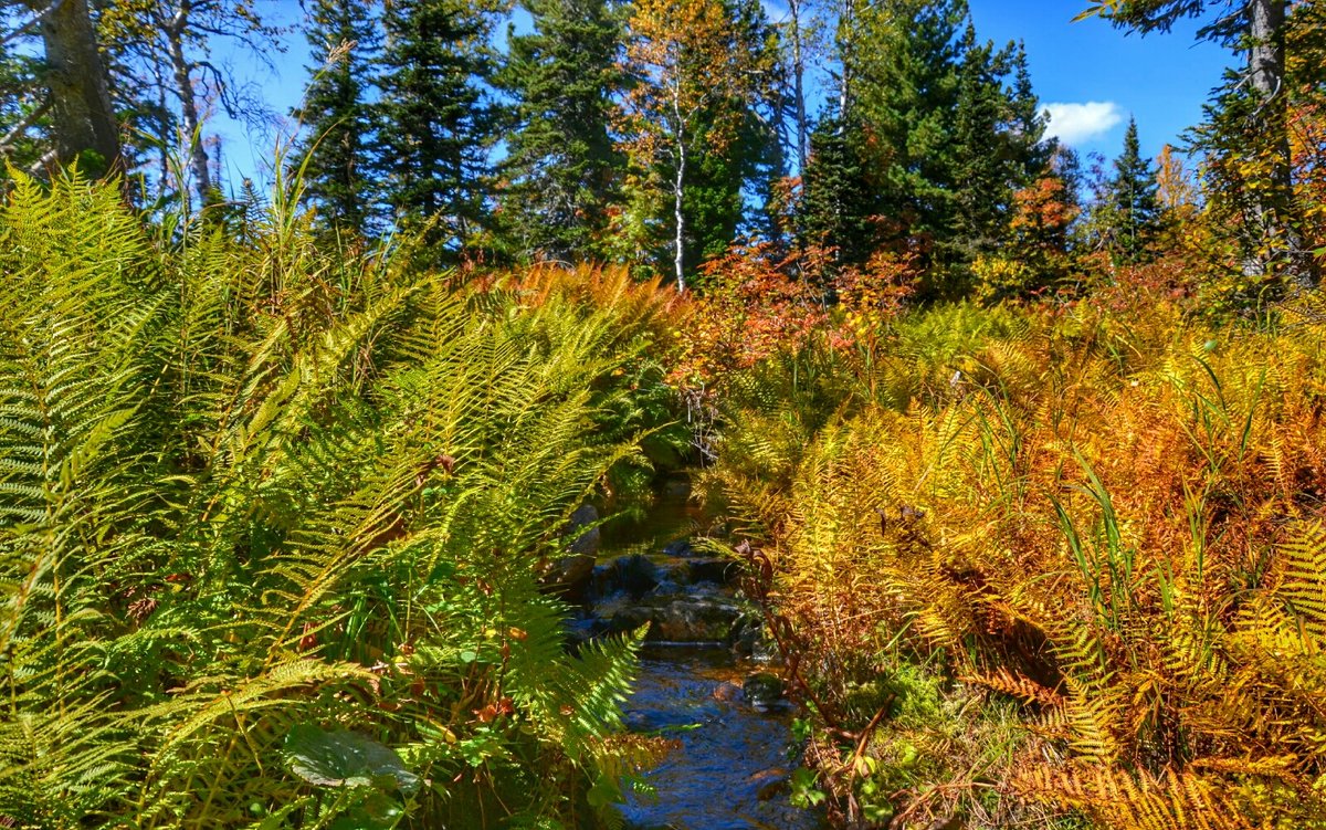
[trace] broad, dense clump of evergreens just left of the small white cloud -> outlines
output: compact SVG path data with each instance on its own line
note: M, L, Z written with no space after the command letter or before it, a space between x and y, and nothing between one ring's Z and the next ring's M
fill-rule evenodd
M1025 53L979 42L965 0L883 0L851 13L857 30L839 34L851 94L841 101L878 196L839 206L835 221L880 216L879 243L928 248L936 267L923 296L956 293L972 261L1008 237L1013 195L1048 160Z

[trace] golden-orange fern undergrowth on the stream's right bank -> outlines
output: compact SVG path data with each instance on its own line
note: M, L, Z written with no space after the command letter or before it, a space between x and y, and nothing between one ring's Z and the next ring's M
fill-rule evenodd
M854 826L1326 826L1310 302L936 308L725 378L705 491L813 712L800 797Z

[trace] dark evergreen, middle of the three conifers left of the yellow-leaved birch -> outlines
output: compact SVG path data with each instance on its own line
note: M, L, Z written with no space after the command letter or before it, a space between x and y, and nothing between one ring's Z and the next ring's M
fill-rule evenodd
M392 0L381 78L381 141L398 223L428 224L427 241L463 248L487 219L499 109L493 72L496 8L468 0Z

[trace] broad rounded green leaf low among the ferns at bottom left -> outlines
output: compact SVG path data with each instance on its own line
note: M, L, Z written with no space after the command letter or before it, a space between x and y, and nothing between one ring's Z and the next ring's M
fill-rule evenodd
M406 769L390 746L358 732L325 732L298 724L285 737L290 772L318 786L394 786L406 793L419 788L419 776Z

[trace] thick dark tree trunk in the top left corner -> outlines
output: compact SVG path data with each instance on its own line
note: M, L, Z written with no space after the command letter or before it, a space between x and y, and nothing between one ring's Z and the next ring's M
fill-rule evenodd
M56 162L78 160L82 171L94 176L114 172L121 163L119 125L88 0L27 0L27 5L42 16Z

